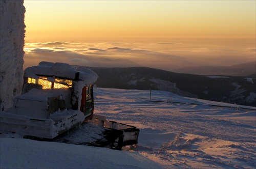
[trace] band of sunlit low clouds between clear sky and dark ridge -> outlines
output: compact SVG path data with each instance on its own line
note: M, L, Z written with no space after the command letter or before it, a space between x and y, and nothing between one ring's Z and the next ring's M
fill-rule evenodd
M156 43L26 43L24 68L40 61L89 67L152 67L174 71L186 66L231 66L255 60L253 48L190 41ZM254 55L253 55L254 54ZM226 62L228 65L223 65Z

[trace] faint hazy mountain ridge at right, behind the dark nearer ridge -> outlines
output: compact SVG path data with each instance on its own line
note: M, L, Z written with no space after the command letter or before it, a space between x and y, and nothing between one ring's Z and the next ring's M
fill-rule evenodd
M234 66L199 66L183 67L175 70L177 73L199 75L227 75L227 76L256 76L256 62L249 62Z

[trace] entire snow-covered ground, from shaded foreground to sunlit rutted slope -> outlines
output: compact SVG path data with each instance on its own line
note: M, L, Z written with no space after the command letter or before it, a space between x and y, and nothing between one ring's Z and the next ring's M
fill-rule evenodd
M134 147L117 151L1 135L0 168L256 167L256 107L151 93L94 89L95 114L140 128Z

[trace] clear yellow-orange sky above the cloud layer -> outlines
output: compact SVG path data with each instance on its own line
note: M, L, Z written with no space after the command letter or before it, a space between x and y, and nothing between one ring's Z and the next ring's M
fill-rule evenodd
M255 1L28 1L26 42L255 37Z

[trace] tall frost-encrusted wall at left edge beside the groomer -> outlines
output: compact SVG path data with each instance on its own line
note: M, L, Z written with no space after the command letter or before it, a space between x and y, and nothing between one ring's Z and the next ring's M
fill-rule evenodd
M0 111L12 106L23 86L25 7L23 0L0 0Z

